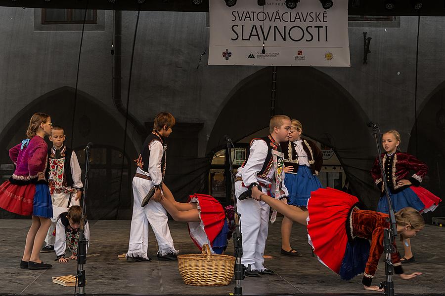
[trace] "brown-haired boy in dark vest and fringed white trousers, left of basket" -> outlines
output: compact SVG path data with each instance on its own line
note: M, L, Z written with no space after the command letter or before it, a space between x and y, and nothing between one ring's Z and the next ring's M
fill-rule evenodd
M147 256L148 248L148 224L158 241L158 260L176 261L178 251L173 245L170 234L167 211L157 202L162 193L162 182L166 168L164 137L172 133L175 125L175 117L169 112L161 112L156 115L153 131L145 139L142 152L136 160L136 175L133 178L133 216L130 230L130 242L127 253L127 261L150 261ZM153 198L142 207L142 201L151 188L155 188Z

